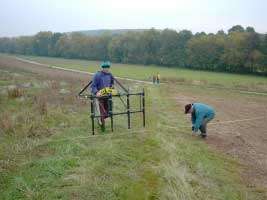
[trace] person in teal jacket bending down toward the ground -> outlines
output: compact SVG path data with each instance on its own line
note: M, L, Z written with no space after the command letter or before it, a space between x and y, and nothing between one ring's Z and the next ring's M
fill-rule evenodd
M192 103L185 105L185 114L191 114L192 131L197 133L200 130L201 137L206 138L207 123L214 118L214 109L204 103Z

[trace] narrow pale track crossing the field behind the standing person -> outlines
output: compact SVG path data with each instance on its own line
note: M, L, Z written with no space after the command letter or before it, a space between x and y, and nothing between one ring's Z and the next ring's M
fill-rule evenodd
M52 69L59 69L59 70L70 71L70 72L75 72L75 73L94 75L94 73L85 72L85 71L81 71L81 70L67 69L67 68L63 68L63 67L57 67L54 65L51 66L51 65L47 65L47 64L43 64L43 63L31 61L31 60L19 58L19 57L15 57L15 58L19 61L22 61L22 62L26 62L26 63L30 63L30 64L34 64L34 65L39 65L39 66L43 66L43 67L49 67ZM125 80L125 81L133 81L133 82L137 82L137 83L145 83L145 84L150 84L150 85L153 84L152 82L149 82L149 81L142 81L142 80L136 80L136 79L130 79L130 78L117 77L117 76L115 78L120 79L120 80Z

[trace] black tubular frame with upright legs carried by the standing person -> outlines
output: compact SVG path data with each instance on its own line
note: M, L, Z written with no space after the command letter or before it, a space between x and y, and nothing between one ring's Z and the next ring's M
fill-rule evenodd
M134 113L143 113L143 127L145 127L146 125L146 120L145 120L145 91L144 89L142 90L142 92L137 92L137 93L130 93L129 90L127 90L116 78L114 78L114 81L122 88L122 90L125 93L118 93L116 95L112 95L112 94L108 94L105 96L96 96L93 94L83 94L86 89L92 84L92 81L90 81L78 94L78 97L81 99L90 99L90 110L91 110L91 121L92 121L92 134L95 134L95 118L101 118L104 117L103 115L101 115L101 113L99 115L96 114L95 112L95 100L96 99L103 99L106 98L108 99L108 113L107 113L107 117L110 118L111 120L111 131L113 132L113 116L116 115L127 115L127 121L128 121L128 129L131 128L131 114ZM122 97L126 96L126 103L123 101ZM130 97L131 96L139 96L139 109L138 110L131 110L130 109ZM113 102L112 99L113 98L120 98L120 100L122 101L122 103L124 104L125 108L126 108L126 112L113 112Z

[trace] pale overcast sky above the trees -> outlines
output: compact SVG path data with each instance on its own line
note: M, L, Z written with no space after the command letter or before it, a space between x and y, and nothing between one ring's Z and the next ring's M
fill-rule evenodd
M152 27L216 33L237 24L267 33L267 0L0 0L0 37Z

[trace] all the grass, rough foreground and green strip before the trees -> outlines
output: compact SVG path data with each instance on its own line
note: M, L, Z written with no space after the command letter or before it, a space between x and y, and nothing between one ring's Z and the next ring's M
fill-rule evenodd
M92 72L98 65L80 60L30 59ZM119 117L114 133L102 134L97 129L97 135L91 136L88 102L75 98L81 82L1 67L0 199L266 199L264 188L251 187L243 180L244 166L238 159L192 137L183 105L176 102L178 93L239 102L249 95L199 90L190 85L126 83L136 90L145 87L146 128L141 127L139 115L133 118L131 130L127 130L126 119ZM209 85L253 86L266 91L266 79L253 76L113 67L116 76L140 76L143 80L157 71L166 80L196 78ZM264 96L257 98L266 100Z

